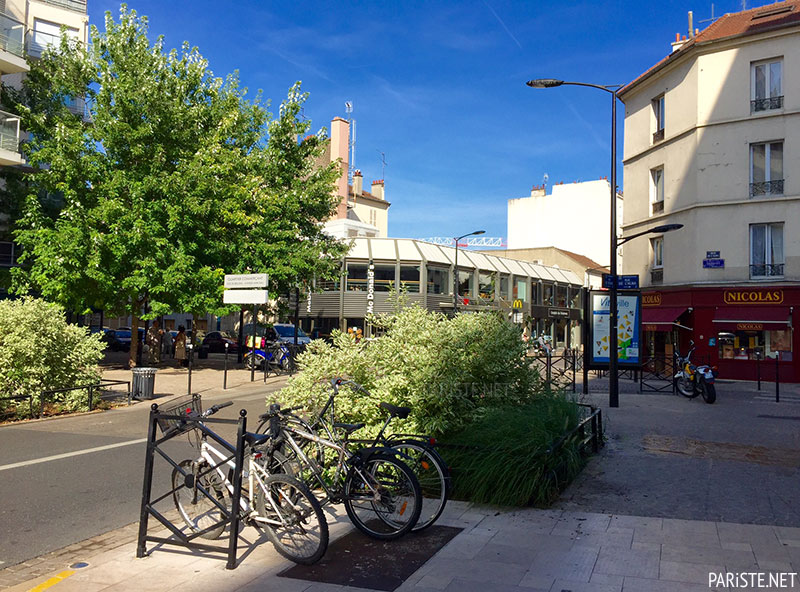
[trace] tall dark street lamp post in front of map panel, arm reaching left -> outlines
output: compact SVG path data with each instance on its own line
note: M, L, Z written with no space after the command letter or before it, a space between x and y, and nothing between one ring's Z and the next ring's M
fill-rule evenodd
M617 338L617 91L621 84L589 84L565 82L554 78L539 78L526 82L531 88L553 88L555 86L590 86L611 95L611 288L609 302L609 354L608 354L608 406L619 407L619 342Z

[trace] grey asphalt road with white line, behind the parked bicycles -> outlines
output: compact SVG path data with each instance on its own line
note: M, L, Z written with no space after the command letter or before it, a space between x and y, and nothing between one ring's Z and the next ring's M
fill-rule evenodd
M235 419L247 409L254 429L266 393L280 386L204 395L203 405L233 400L217 416ZM0 427L0 568L139 519L149 407ZM187 439L170 442L170 454L192 456ZM170 474L165 461L157 462L154 491L167 487Z

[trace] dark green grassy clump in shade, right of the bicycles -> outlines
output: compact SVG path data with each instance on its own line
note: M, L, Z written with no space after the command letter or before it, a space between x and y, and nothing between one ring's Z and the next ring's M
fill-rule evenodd
M491 409L442 436L439 452L451 468L453 495L506 506L550 504L582 468L574 441L548 448L573 429L578 406L560 396Z

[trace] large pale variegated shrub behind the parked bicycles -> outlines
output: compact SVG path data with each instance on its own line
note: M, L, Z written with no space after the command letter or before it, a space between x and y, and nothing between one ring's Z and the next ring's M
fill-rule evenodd
M394 431L433 435L453 432L487 409L521 404L543 391L525 359L517 327L495 313L454 318L418 305L374 319L384 331L367 342L337 332L333 345L314 341L299 358L302 372L275 400L320 409L330 379L345 376L371 391L367 397L343 389L337 419L381 423L380 401L411 407Z

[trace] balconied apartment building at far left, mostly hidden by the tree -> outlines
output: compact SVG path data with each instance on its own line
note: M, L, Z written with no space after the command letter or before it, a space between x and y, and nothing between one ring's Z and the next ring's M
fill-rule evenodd
M38 58L47 46L57 44L62 26L68 35L87 42L86 0L0 0L2 83L20 86L30 69L27 58ZM68 107L83 113L83 99L72 99ZM19 150L24 136L19 118L0 110L0 167L25 165ZM0 269L13 266L17 258L8 222L8 212L0 212Z

